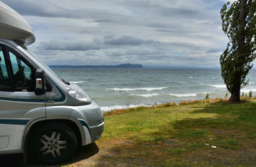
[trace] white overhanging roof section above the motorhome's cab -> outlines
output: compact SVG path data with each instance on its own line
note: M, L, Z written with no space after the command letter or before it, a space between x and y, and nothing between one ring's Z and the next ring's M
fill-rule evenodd
M31 45L36 37L31 26L14 9L0 1L0 38Z

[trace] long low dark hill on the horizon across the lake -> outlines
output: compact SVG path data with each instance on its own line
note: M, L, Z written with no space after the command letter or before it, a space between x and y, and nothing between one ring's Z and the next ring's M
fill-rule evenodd
M119 65L79 65L79 66L68 66L68 65L50 65L50 68L137 68L142 69L142 64L119 64Z

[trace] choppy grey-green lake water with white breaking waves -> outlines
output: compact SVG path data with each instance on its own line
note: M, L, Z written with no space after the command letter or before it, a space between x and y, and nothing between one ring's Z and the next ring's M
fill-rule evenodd
M53 69L83 88L103 111L155 103L224 97L220 69ZM242 92L256 94L256 70ZM230 94L229 94L230 96Z

